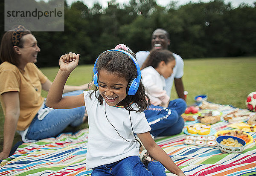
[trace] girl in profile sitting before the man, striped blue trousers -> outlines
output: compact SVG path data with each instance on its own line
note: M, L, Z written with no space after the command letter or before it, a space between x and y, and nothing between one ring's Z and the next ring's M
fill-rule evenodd
M172 75L174 67L175 58L167 49L152 50L142 66L142 82L151 103L144 113L151 127L150 133L155 137L175 135L184 127L180 115L186 109L186 102L181 98L169 101L164 90L165 78Z

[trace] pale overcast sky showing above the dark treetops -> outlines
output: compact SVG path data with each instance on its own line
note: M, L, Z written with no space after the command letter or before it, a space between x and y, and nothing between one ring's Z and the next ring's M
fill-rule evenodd
M70 5L72 2L76 2L78 0L67 0L67 3ZM107 6L107 2L109 0L80 0L83 1L84 4L86 4L89 8L93 6L94 2L99 2L103 7ZM177 5L184 5L189 2L195 2L198 3L200 0L157 0L157 4L159 6L166 6L169 4L171 1L176 1L178 2ZM210 0L201 0L201 2L209 2ZM123 3L129 3L129 0L116 0L119 4ZM237 7L241 3L247 3L249 5L253 5L253 2L256 2L256 0L224 0L225 3L231 2L232 6Z

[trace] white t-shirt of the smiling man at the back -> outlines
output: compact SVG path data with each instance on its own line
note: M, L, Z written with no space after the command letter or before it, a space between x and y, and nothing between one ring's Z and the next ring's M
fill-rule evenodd
M149 53L150 53L149 51L139 51L136 53L136 58L140 65L140 68L143 65L146 58L148 57ZM174 78L177 78L177 79L182 78L183 68L184 68L184 62L182 58L179 55L176 55L175 53L173 53L173 56L175 57L176 64L173 69L172 75L169 78L165 79L166 87L164 87L164 89L167 92L167 95L169 96L171 96L171 90L172 90L172 84L173 84Z

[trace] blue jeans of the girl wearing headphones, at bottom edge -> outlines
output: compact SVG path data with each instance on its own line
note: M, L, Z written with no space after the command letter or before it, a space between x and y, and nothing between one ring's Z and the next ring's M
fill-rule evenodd
M166 176L163 164L158 161L148 163L148 170L138 156L130 156L118 162L93 168L92 176Z

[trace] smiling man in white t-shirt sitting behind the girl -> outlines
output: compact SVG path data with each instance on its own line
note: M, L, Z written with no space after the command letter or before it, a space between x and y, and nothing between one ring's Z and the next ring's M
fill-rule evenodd
M169 33L162 28L157 28L156 30L154 30L151 37L151 49L168 49L169 45ZM136 53L136 58L140 67L143 65L149 53L149 51L139 51ZM169 78L165 79L166 87L164 87L164 89L166 90L167 95L171 95L172 85L174 81L178 97L185 100L185 95L183 93L184 86L182 82L184 62L179 55L176 55L175 53L173 53L173 55L175 57L176 65L173 69L172 75Z

